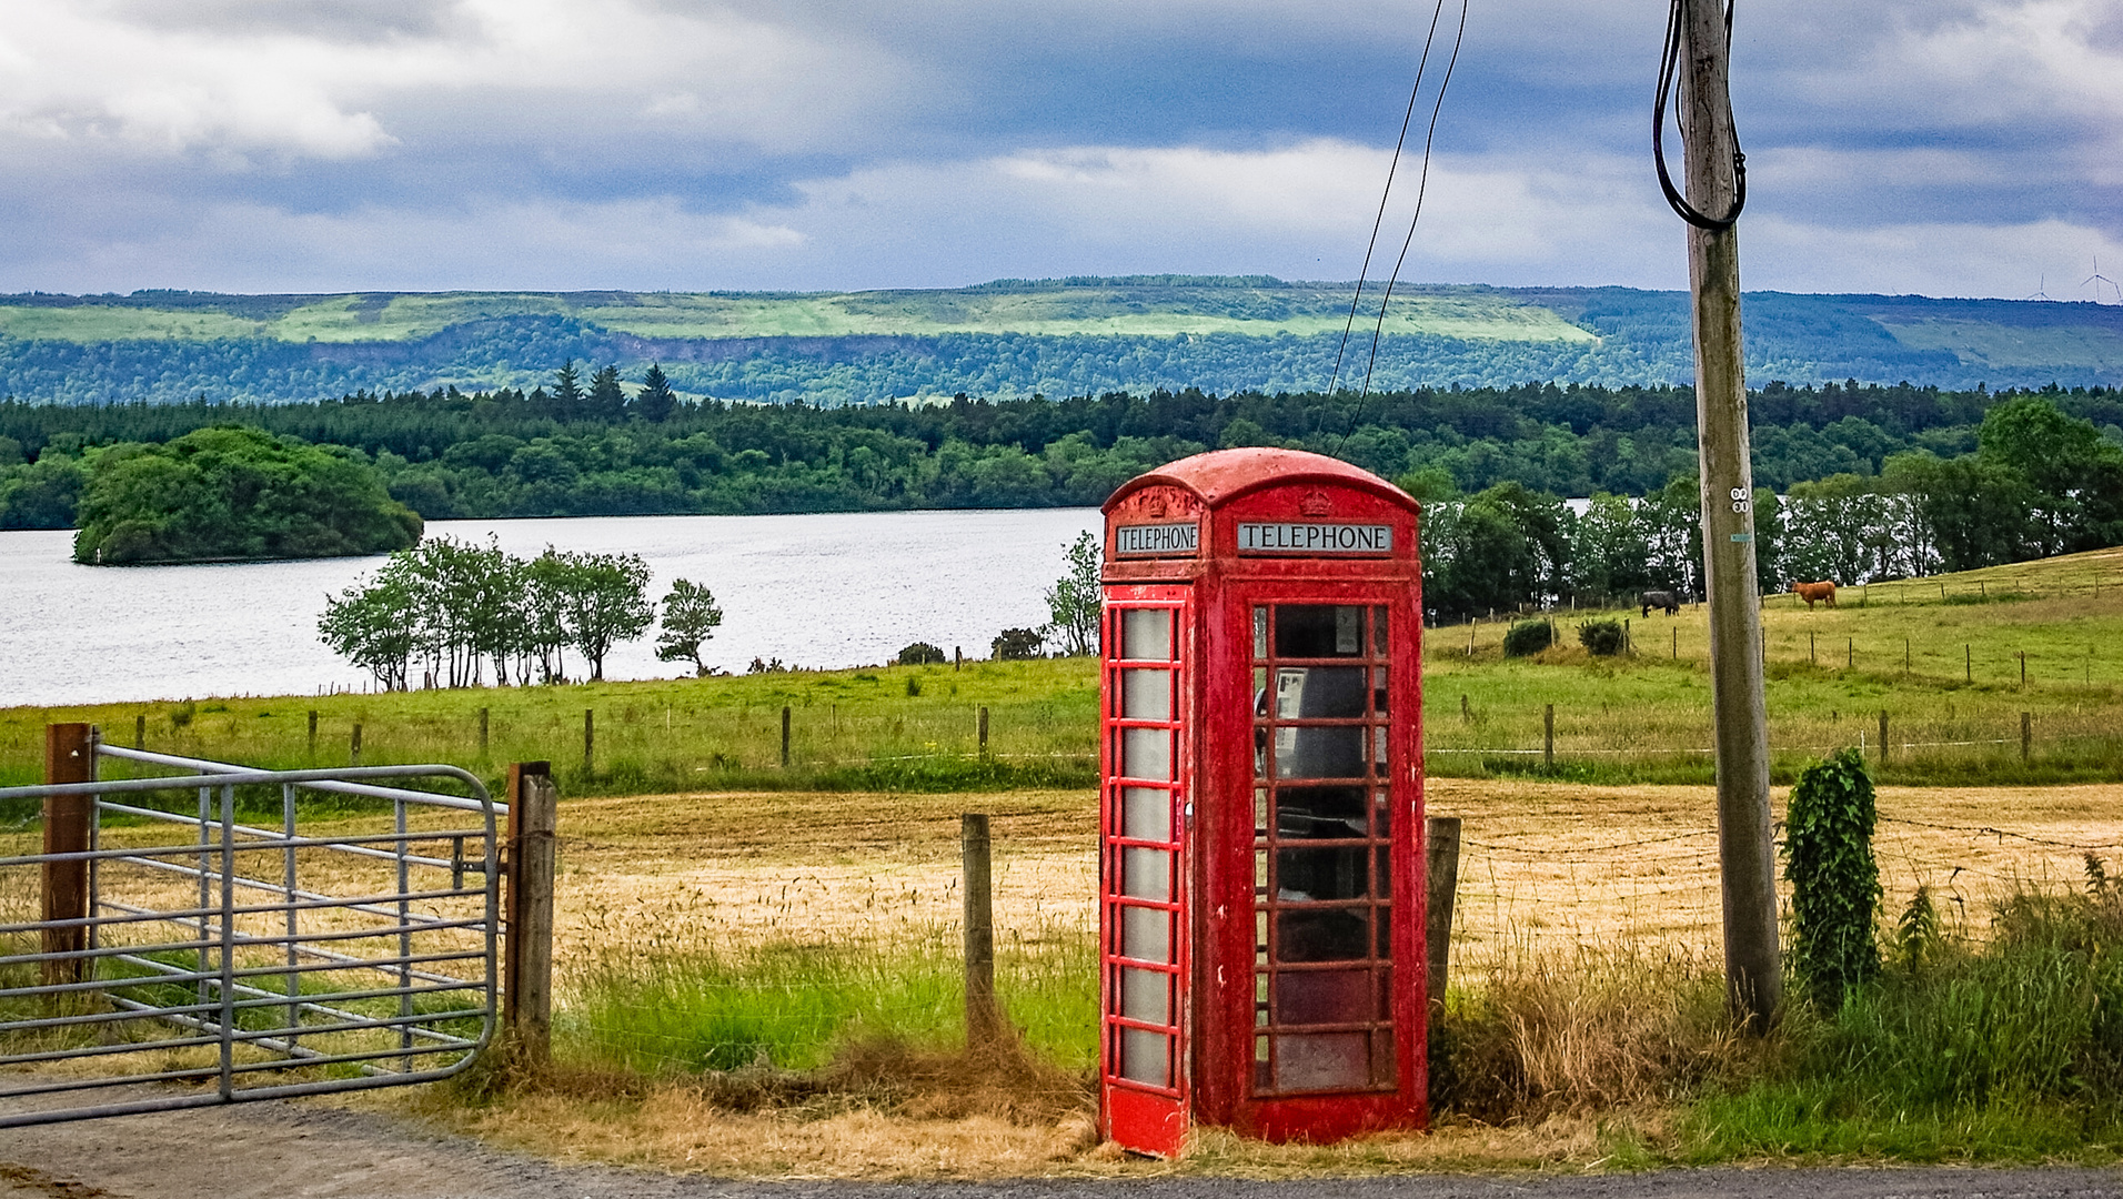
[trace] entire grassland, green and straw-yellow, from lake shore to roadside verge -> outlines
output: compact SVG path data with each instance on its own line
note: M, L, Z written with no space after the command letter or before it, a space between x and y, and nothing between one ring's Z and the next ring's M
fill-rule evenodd
M569 796L554 1074L372 1099L548 1154L762 1178L2115 1161L2110 1106L2072 1095L2110 1093L2100 1055L2123 1036L2102 1014L2123 976L2100 949L2123 929L2123 893L2089 889L2085 864L2123 855L2119 567L2119 552L2002 567L1847 592L1834 611L1766 601L1779 777L1860 738L1879 762L1889 713L1883 910L1928 887L1945 944L1862 1004L1794 1006L1760 1046L1720 1016L1703 613L1633 618L1620 660L1569 645L1505 660L1503 622L1431 630L1427 796L1467 821L1437 1059L1459 1116L1333 1148L1208 1135L1168 1165L1102 1154L1083 1118L1087 660L8 709L0 753L8 781L30 781L42 722L132 741L144 715L149 747L261 764L342 762L355 722L365 762L554 760ZM1025 1046L1008 1061L957 1050L966 811L996 828L998 991ZM1938 1046L1981 1065L1938 1072Z

